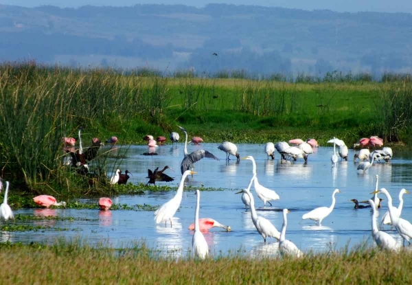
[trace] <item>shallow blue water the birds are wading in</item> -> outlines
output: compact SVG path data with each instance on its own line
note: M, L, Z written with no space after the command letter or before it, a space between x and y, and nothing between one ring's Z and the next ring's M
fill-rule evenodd
M275 239L268 238L266 244L262 236L253 226L250 212L245 212L240 194L235 190L247 187L252 174L252 162L242 160L236 162L225 161L225 152L218 150L218 144L202 144L201 146L188 146L189 152L203 148L214 153L220 161L202 159L195 164L198 174L190 177L188 185L201 187L224 188L223 191L201 192L200 216L218 220L223 225L230 225L232 231L215 228L204 233L209 249L214 254L238 252L251 255L277 255ZM180 163L183 159L183 144L160 146L158 155L144 156L148 152L147 146L123 146L117 150L120 154L126 151L126 159L117 161L121 170L129 170L133 176L129 183L146 183L148 168L154 170L163 166L170 166L171 170L165 173L175 178L168 185L176 186L179 183ZM354 150L350 150L349 161L339 161L337 168L331 168L330 157L333 153L331 147L320 147L317 153L310 155L308 165L303 159L295 163L281 164L279 155L275 160L267 159L264 145L238 144L241 157L252 155L258 169L258 179L261 185L275 190L280 200L271 201L273 207L266 205L255 196L255 205L258 214L271 220L273 225L281 231L281 209L290 209L288 214L288 229L286 238L292 240L302 251L328 251L356 246L362 242L371 244L371 211L369 209L354 209L354 204L349 200L357 198L359 201L367 200L375 189L375 176L379 174L379 188L385 187L393 196L393 204L398 206L398 193L401 188L411 190L412 157L408 152L394 153L389 163L374 163L365 174L357 172L358 163L354 163ZM114 163L114 160L113 160ZM111 173L109 173L110 175ZM160 182L159 185L166 183ZM153 187L153 186L150 186ZM148 187L150 189L150 187ZM336 194L336 205L330 216L325 218L321 226L315 226L312 220L301 220L306 212L320 206L330 206L332 192L339 188L342 193ZM255 194L253 187L252 193ZM175 192L150 192L144 195L113 197L114 203L136 205L162 205L167 202ZM387 199L384 198L380 217L387 210ZM412 197L404 195L404 208L402 218L412 220ZM84 203L84 201L82 201ZM89 201L97 203L97 201ZM19 209L15 214L58 215L75 218L84 217L90 220L41 220L25 222L30 225L47 225L50 227L75 229L73 231L27 231L1 233L1 241L11 242L53 242L56 238L67 239L80 236L83 240L96 244L105 242L113 247L130 246L133 242L144 240L150 247L172 251L176 255L185 255L192 247L193 232L187 227L194 221L194 207L196 195L194 191L183 192L183 199L179 212L175 214L172 227L163 223L156 225L153 212L135 211L109 211L100 212L90 209ZM378 222L380 218L378 218ZM18 222L23 223L23 222ZM388 233L402 243L396 231L386 227Z

